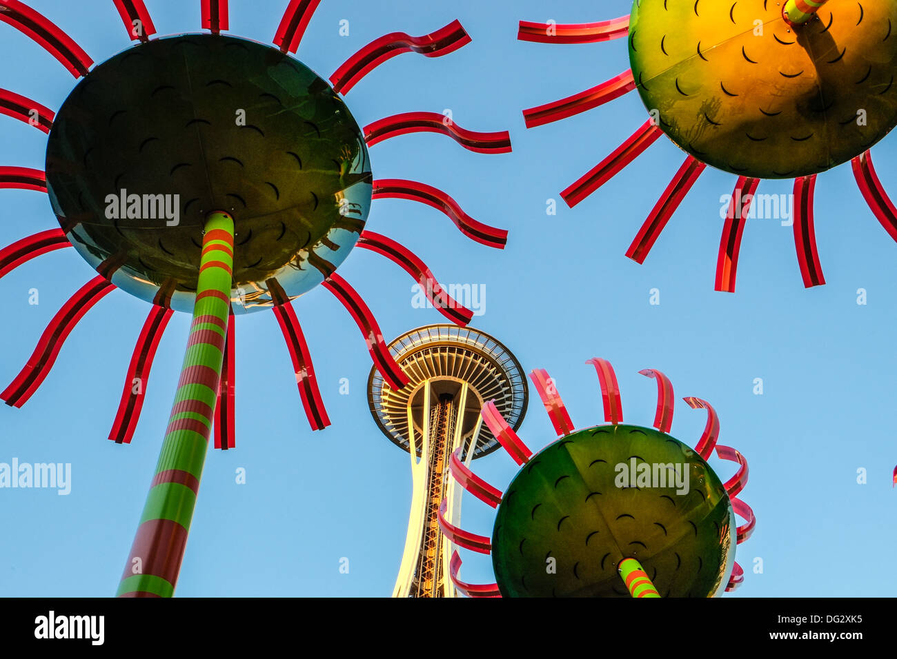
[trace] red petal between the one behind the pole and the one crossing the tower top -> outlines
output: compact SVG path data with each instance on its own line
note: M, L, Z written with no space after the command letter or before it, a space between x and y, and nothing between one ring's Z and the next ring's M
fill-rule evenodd
M321 398L309 344L305 341L305 334L302 334L299 318L296 317L296 311L292 308L292 303L280 283L275 279L269 279L266 283L274 298L274 316L277 316L283 340L290 351L292 369L296 374L296 385L299 386L305 416L312 430L323 430L330 425L330 418L324 407L324 399Z

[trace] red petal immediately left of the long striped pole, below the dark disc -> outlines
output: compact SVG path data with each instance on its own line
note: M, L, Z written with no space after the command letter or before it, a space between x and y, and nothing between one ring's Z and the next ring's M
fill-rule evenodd
M155 359L162 334L165 333L173 313L170 308L152 305L149 315L146 316L144 327L137 337L134 353L131 355L131 363L127 367L118 412L112 429L109 430L109 439L116 444L130 444L134 438L137 421L140 421L140 412L144 408L146 383L150 378L152 360ZM137 393L134 391L135 386L138 386Z

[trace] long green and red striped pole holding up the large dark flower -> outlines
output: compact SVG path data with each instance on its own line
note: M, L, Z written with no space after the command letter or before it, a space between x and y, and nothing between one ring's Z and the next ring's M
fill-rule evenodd
M232 269L233 220L226 212L213 212L205 221L196 306L178 392L118 585L119 597L171 597L178 583L221 380Z

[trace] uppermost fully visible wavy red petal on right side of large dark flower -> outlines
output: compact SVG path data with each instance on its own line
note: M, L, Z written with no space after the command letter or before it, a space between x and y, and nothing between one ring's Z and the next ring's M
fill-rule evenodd
M414 51L427 57L440 57L456 51L470 43L470 37L457 21L450 22L444 28L412 37L405 32L392 32L371 41L361 48L330 76L337 93L347 94L370 71L388 59Z

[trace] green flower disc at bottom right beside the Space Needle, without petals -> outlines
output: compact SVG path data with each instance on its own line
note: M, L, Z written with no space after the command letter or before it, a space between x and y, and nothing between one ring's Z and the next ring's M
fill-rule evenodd
M735 531L723 484L692 448L656 429L598 426L520 470L495 519L492 565L506 597L629 597L625 558L663 597L708 597L727 585Z

